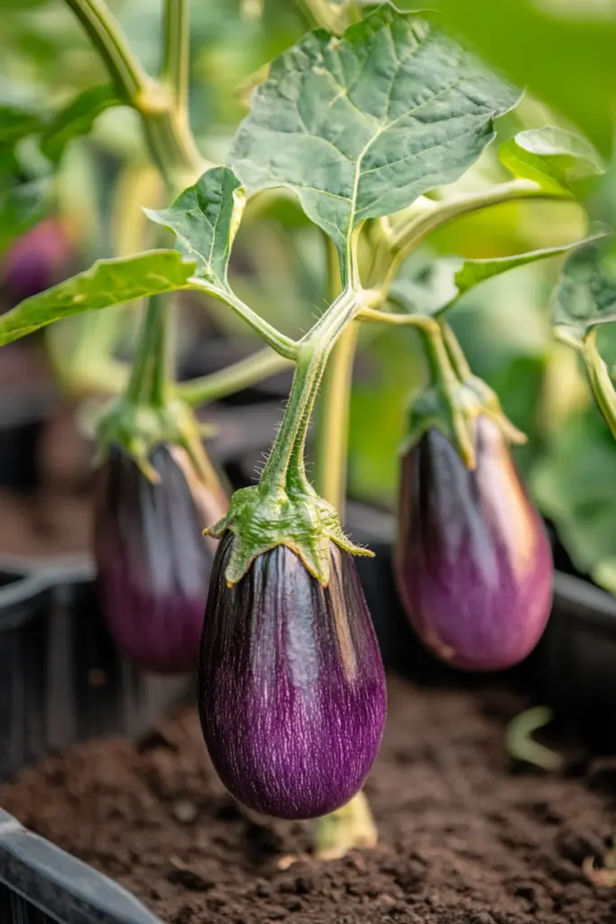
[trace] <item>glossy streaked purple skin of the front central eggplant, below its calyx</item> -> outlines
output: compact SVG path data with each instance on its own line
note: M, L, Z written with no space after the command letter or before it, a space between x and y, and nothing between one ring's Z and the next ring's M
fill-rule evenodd
M387 693L350 553L331 545L323 589L284 545L229 588L221 541L201 639L199 712L211 760L236 798L278 818L317 818L361 788Z

